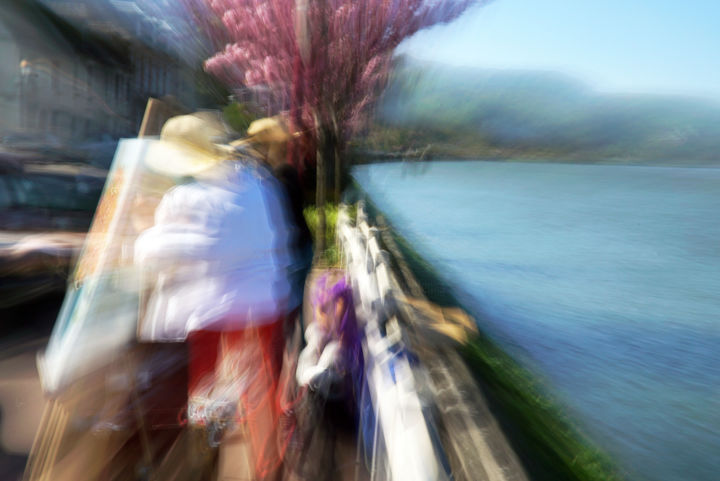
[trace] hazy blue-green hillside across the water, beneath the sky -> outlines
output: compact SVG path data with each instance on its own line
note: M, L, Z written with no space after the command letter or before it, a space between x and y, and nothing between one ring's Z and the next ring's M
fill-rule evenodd
M600 95L557 73L405 61L359 146L435 157L720 164L720 103Z

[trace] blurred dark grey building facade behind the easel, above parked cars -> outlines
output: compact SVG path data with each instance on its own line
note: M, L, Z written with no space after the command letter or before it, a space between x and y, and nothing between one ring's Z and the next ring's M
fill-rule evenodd
M194 71L180 59L122 32L76 26L34 0L5 2L0 58L3 137L135 136L149 97L196 103Z

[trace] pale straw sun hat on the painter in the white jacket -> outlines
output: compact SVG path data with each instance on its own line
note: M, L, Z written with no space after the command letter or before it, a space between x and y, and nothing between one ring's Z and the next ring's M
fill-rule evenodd
M193 176L225 159L234 149L224 145L230 131L219 112L196 112L173 117L153 142L145 161L153 171L170 177Z

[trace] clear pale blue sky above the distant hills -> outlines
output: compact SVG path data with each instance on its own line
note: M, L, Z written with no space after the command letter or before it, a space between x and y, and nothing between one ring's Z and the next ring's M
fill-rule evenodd
M720 0L496 0L399 51L452 65L559 71L599 91L720 99Z

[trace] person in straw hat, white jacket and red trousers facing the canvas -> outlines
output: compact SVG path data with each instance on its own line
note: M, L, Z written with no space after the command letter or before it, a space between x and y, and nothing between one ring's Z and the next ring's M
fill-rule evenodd
M187 342L188 421L210 442L242 416L255 477L279 466L276 389L290 295L282 188L219 116L174 117L146 156L175 179L135 243L150 279L140 340Z

